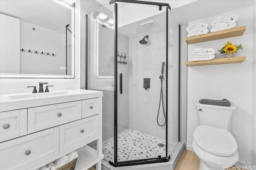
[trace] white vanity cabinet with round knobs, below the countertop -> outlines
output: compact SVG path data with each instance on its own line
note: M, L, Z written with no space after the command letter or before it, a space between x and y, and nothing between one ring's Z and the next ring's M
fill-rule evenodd
M0 112L0 169L35 170L95 140L97 151L86 146L76 170L94 164L101 169L102 92L93 93L75 101L54 100L48 105Z

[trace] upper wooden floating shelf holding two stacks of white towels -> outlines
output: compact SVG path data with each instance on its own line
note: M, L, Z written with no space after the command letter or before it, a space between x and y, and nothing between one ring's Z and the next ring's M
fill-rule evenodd
M217 31L217 32L203 34L203 35L197 35L194 37L186 37L185 41L188 44L194 44L194 43L201 43L201 42L212 41L212 40L217 40L217 39L238 37L238 36L243 35L245 30L246 30L246 26L236 27L236 28L226 29L223 31Z

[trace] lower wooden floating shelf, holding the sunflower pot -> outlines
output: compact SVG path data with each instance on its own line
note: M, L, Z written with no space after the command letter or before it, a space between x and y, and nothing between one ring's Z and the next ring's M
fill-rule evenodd
M215 65L215 64L234 64L234 63L243 63L246 57L231 57L223 59L213 59L210 61L187 61L185 64L187 66L205 66L205 65Z

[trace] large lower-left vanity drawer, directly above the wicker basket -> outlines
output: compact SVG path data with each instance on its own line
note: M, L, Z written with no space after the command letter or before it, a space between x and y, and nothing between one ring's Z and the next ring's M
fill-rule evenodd
M24 170L59 153L59 127L0 143L0 169Z

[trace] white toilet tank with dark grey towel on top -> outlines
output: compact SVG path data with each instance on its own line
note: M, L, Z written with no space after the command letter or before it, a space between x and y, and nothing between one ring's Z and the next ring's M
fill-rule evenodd
M199 113L200 125L219 127L230 131L232 115L236 106L215 106L194 103Z

